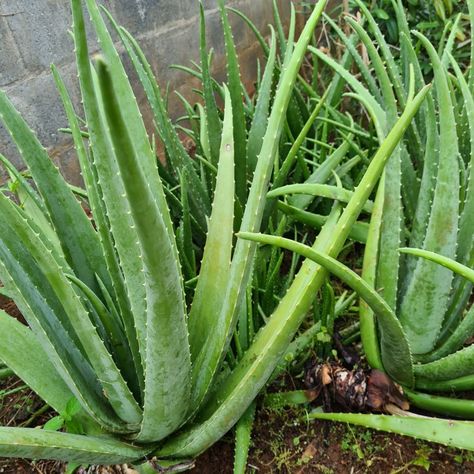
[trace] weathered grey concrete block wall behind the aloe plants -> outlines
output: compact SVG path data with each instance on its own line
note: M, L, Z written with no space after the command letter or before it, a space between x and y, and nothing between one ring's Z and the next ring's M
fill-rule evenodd
M190 65L191 60L199 60L198 0L101 2L138 39L159 81L162 84L169 82L171 90L192 98L191 89L197 85L196 82L169 66ZM203 3L209 46L216 53L215 73L223 80L223 39L216 0L204 0ZM279 0L279 4L283 17L288 18L289 1ZM227 5L243 11L262 32L268 33L268 24L273 19L271 0L227 0ZM232 14L230 19L239 51L242 77L251 87L260 54L259 46L242 20ZM79 105L73 44L68 33L70 25L68 0L0 0L0 88L6 91L31 128L37 132L40 141L50 149L61 171L77 184L80 177L70 140L58 132L67 123L50 73L50 65L54 63L73 100ZM135 89L139 101L144 103L143 92L139 87ZM172 104L175 114L178 113L176 102ZM144 115L150 123L146 108ZM13 158L19 167L22 166L15 147L1 125L0 152ZM0 178L2 176L0 174Z

